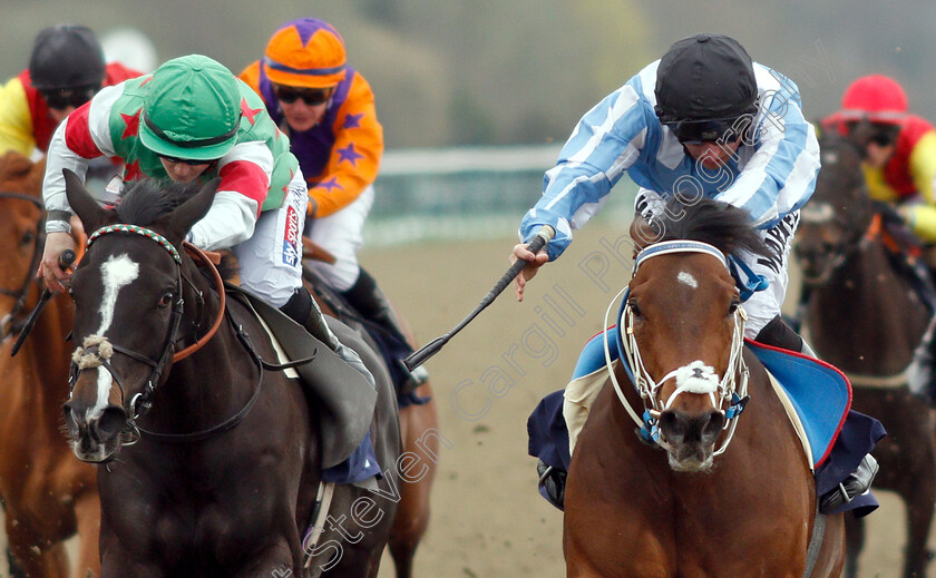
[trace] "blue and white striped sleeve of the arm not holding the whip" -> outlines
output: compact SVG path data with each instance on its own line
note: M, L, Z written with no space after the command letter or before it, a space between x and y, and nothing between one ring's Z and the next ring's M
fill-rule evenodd
M754 71L761 92L755 151L715 198L748 210L754 226L769 228L812 196L819 141L803 118L796 84L760 65Z

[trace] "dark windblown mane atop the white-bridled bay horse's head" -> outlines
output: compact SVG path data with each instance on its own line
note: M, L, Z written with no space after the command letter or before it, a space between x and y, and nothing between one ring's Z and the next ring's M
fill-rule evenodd
M654 216L652 226L662 232L656 241L699 241L725 255L747 251L769 256L769 248L751 225L748 212L721 200L703 197L698 203L684 205L673 197L661 216Z

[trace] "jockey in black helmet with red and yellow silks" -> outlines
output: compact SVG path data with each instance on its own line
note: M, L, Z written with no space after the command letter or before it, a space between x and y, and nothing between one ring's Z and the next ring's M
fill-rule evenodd
M84 26L58 25L36 37L29 68L0 88L0 155L46 153L52 131L103 87L140 72L119 62L105 65L95 33Z

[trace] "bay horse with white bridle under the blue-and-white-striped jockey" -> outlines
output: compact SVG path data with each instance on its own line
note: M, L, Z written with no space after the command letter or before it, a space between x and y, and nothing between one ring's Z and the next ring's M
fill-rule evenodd
M755 249L758 237L740 209L703 199L684 212L637 257L625 301L623 350L644 398L620 364L573 452L567 574L800 578L815 482L768 374L742 347L745 315L724 256ZM663 243L673 238L694 241ZM745 389L743 414L727 421L731 394ZM644 404L656 448L634 434ZM823 521L813 578L838 577L845 560L842 515Z

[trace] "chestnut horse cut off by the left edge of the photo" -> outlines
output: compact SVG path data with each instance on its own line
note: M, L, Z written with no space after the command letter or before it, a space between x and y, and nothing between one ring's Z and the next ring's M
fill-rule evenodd
M71 303L48 302L17 356L10 350L36 306L33 282L45 238L40 186L45 163L16 153L0 158L0 498L11 567L32 578L71 575L64 541L80 538L78 576L100 569L100 506L92 466L75 459L61 439L61 403L68 396Z

